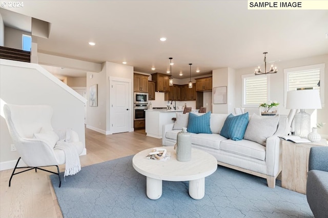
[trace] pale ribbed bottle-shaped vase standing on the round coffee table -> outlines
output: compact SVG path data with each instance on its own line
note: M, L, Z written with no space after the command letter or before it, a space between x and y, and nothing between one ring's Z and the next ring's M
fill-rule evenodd
M183 127L177 136L176 159L180 162L191 160L191 134L187 132L186 127Z

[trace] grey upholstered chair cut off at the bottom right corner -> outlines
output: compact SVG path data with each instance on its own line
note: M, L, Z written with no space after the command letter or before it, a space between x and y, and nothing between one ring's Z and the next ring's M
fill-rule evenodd
M316 218L328 217L328 147L311 147L306 199Z

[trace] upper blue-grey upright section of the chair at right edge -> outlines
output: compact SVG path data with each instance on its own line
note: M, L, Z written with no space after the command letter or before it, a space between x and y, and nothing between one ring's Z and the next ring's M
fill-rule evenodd
M328 172L328 147L311 147L309 155L309 171L312 169Z

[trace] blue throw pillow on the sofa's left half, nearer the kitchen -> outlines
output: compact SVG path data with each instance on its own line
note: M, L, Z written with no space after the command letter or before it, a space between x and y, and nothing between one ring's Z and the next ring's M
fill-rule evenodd
M194 113L189 113L187 131L189 133L208 133L211 134L210 128L211 112L198 116Z

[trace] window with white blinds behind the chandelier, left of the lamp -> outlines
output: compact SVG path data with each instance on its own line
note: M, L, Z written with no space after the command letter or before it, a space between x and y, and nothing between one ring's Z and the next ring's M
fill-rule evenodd
M243 106L245 105L258 105L268 101L269 96L269 77L267 75L242 76L242 96Z

